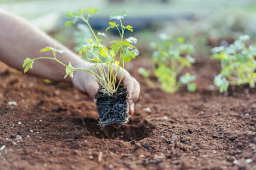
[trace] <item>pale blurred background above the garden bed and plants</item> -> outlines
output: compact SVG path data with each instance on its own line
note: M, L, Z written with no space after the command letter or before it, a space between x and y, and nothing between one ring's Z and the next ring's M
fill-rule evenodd
M128 11L124 23L134 27L140 51L150 52L150 42L159 41L161 34L184 37L202 56L242 34L256 40L256 0L0 0L1 9L26 18L75 51L90 32L82 22L65 28L64 14L88 7L99 8L90 22L101 32L110 13ZM117 35L110 31L104 41Z

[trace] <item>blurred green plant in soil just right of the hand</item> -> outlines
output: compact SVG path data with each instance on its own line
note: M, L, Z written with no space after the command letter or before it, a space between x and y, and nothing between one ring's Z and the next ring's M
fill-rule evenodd
M191 44L184 43L183 38L178 38L175 45L171 38L162 34L160 36L162 42L153 43L152 47L156 51L152 55L153 71L158 81L161 83L161 88L166 93L175 93L183 85L187 85L189 92L195 92L196 85L192 83L195 76L189 72L182 75L184 68L191 68L195 59L191 54L194 48ZM146 77L146 70L140 68L139 73Z

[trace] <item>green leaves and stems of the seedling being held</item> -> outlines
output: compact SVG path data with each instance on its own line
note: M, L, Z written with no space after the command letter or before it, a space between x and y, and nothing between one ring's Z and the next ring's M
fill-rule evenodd
M54 57L39 57L35 59L27 58L23 64L23 67L25 67L24 72L26 73L29 68L32 68L34 61L37 59L53 59L66 68L66 75L64 78L67 76L73 77L73 72L76 70L87 71L96 78L99 84L103 87L105 93L115 93L123 77L125 62L130 62L131 59L134 59L139 54L136 47L132 45L132 43L137 43L137 39L134 37L128 37L127 39L124 38L125 30L133 32L132 26L124 26L122 24L122 19L128 16L129 13L126 11L122 12L121 15L112 13L110 15L110 19L118 20L119 23L109 22L110 26L106 29L106 31L113 28L117 29L120 39L110 41L110 49L102 45L100 37L106 37L106 34L101 32L96 34L89 24L89 18L96 14L97 11L98 9L96 8L88 8L87 17L84 17L84 10L82 8L80 8L78 12L69 12L66 14L66 17L70 18L70 20L65 23L66 27L70 27L72 24L75 24L78 19L82 19L91 30L93 38L87 39L87 42L85 42L85 44L79 49L80 55L85 54L87 59L95 62L90 69L74 68L70 62L68 65L66 65L56 58L56 52L62 53L63 51L57 50L53 47L46 47L42 49L41 52L53 51ZM117 74L120 70L122 75L120 80L117 80Z

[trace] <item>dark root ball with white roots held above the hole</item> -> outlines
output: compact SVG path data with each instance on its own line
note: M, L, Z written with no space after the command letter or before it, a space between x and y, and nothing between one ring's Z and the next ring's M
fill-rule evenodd
M102 128L116 124L126 124L129 118L129 100L127 88L120 84L118 90L110 95L101 86L96 94L96 106L99 124Z

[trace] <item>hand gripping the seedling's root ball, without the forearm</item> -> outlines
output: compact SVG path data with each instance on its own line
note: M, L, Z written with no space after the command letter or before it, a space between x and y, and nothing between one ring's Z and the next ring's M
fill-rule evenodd
M88 62L81 62L76 64L76 68L90 68L92 63ZM104 65L104 68L107 69L107 66ZM93 70L92 70L93 71ZM121 69L118 72L117 79L119 80L121 78L122 71ZM135 78L130 76L128 71L124 70L123 72L123 77L122 81L123 85L127 87L128 90L128 95L129 95L129 114L132 115L134 112L134 103L137 101L139 93L140 93L140 85L137 82ZM88 72L85 71L75 71L73 78L72 78L72 83L75 88L77 88L80 92L82 93L88 93L91 98L96 102L95 94L98 92L98 89L100 88L97 80L95 77Z

